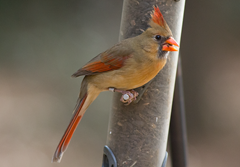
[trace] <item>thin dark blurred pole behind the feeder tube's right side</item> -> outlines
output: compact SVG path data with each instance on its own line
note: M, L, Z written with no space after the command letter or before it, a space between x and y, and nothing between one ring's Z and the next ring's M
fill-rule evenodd
M169 131L171 137L171 159L172 166L187 167L187 130L180 55L178 60L177 77Z

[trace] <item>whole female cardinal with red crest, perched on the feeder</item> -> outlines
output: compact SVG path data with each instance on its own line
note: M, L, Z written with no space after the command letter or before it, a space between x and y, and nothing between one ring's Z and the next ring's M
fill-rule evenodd
M140 87L164 67L169 51L177 51L178 46L159 8L154 7L149 28L141 35L121 41L112 48L97 55L74 73L73 77L85 75L74 115L67 127L53 162L60 162L71 137L89 105L102 91L112 90L128 94L128 104L138 95L134 88Z

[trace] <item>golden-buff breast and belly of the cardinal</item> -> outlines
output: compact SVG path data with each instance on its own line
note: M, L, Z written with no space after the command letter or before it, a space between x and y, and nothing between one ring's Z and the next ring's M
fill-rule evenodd
M129 90L140 87L152 80L166 64L166 59L157 61L128 61L122 68L91 76L91 82L100 89L114 87Z

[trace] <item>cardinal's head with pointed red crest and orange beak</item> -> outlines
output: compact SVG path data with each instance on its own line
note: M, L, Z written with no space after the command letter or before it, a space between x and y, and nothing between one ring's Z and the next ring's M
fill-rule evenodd
M179 45L172 37L172 32L157 6L154 6L148 24L150 27L143 34L147 36L149 43L157 44L160 57L165 57L169 51L178 50L176 47Z

